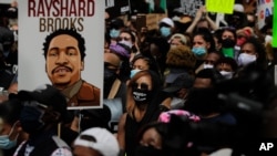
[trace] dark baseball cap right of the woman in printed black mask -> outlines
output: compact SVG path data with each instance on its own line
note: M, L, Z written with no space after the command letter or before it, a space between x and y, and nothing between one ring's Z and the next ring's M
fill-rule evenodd
M164 89L164 92L175 93L183 87L192 87L194 79L191 75L188 75L187 73L182 73L176 75L176 79L173 81L173 83L168 87Z

